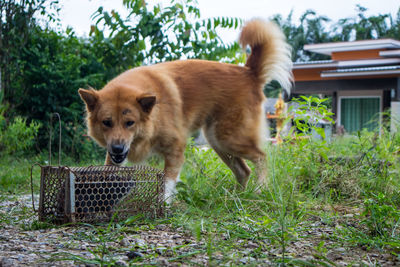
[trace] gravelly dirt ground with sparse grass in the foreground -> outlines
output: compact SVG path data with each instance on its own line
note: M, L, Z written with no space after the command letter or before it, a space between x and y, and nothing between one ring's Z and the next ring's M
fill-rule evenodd
M0 267L96 266L100 261L116 266L216 266L220 263L270 266L276 265L277 259L283 256L281 248L267 241L245 239L235 242L228 253L210 256L205 240L199 241L186 230L168 224L137 227L115 236L83 225L40 229L43 227L35 227L37 216L31 206L30 196L0 201ZM343 218L352 216L347 214ZM398 258L388 252L338 246L329 238L338 225L317 219L307 225L303 236L290 241L286 247L285 257L297 259L294 265L400 266ZM305 265L306 262L313 265Z

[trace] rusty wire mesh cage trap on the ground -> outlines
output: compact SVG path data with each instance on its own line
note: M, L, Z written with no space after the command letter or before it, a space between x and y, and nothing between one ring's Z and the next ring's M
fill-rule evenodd
M60 158L58 166L51 166L51 158L49 164L39 165L39 221L95 223L139 214L164 216L161 170L147 166L67 167L60 165Z

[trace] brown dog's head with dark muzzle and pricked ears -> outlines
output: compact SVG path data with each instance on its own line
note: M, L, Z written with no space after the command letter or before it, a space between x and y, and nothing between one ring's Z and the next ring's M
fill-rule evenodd
M78 92L86 104L89 135L107 148L113 164L123 163L132 142L146 135L156 96L126 88Z

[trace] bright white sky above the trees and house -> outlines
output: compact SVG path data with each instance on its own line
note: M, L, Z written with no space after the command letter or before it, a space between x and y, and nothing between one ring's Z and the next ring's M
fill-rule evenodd
M60 12L63 28L71 26L78 35L88 34L93 22L90 16L99 6L107 10L115 9L124 14L122 0L61 0ZM167 5L168 0L147 0L149 5L161 2ZM293 10L294 21L297 22L300 15L308 9L324 15L333 21L340 18L355 17L356 5L361 4L368 9L367 15L391 13L396 17L399 10L399 0L198 0L198 6L202 18L228 16L250 19L253 17L269 18L275 14L281 14L286 18ZM222 33L226 41L234 41L238 31Z

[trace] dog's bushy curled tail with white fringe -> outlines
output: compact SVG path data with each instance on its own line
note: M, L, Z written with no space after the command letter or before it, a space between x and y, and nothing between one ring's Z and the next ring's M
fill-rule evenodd
M291 47L280 28L272 21L253 19L242 28L240 45L251 48L246 66L264 84L276 80L290 94L292 85Z

